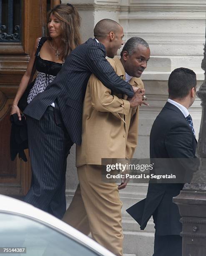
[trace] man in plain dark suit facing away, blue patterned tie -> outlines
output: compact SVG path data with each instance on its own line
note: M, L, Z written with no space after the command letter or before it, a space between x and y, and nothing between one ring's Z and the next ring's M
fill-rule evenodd
M196 74L186 68L173 70L168 79L168 92L168 101L151 129L150 158L161 158L161 161L158 160L160 164L167 163L166 159L176 159L171 161L171 165L166 166L165 172L171 174L178 168L180 176L182 174L187 176L188 171L195 169L196 166L194 158L197 141L188 112L196 96ZM165 160L162 161L163 159ZM132 216L136 215L135 219L140 224L141 230L146 227L153 215L155 223L153 256L182 255L181 216L172 200L183 189L183 179L178 181L182 183L149 183L146 200L127 210ZM138 214L141 215L139 219Z

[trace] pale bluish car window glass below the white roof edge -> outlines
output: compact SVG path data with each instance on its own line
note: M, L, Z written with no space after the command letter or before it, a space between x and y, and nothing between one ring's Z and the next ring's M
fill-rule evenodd
M17 256L101 255L43 223L8 213L0 213L0 247L25 247L24 253L13 251ZM5 255L2 252L0 256Z

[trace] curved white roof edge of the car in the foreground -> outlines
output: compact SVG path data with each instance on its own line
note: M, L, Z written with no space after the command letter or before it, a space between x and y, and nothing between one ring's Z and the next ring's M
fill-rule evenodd
M100 246L91 238L85 236L83 233L79 232L75 228L64 223L62 220L59 220L53 215L50 215L49 213L44 212L43 210L40 210L26 202L5 195L0 195L0 212L16 213L18 215L24 215L28 216L29 218L36 219L49 225L50 227L54 227L55 230L59 230L60 232L63 231L63 233L68 235L70 238L74 238L76 241L84 243L86 246L89 246L90 248L98 251L98 253L101 253L104 256L115 256L106 248Z

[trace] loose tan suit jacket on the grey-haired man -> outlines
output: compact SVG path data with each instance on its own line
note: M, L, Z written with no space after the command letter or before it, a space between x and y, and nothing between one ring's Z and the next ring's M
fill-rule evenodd
M125 80L118 59L108 59ZM140 78L131 85L143 88ZM83 104L82 144L76 146L76 166L101 164L102 158L132 158L138 137L138 108L130 108L126 95L114 95L93 74L88 81Z

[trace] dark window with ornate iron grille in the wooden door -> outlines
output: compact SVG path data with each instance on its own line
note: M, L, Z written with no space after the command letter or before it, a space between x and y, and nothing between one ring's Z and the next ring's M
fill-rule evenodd
M20 41L22 0L0 0L0 42Z

